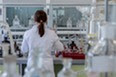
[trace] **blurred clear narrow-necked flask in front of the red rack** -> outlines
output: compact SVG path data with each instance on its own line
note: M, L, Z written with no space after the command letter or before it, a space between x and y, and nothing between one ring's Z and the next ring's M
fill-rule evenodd
M71 65L71 59L63 59L63 69L58 73L58 77L77 77L77 73L71 69Z

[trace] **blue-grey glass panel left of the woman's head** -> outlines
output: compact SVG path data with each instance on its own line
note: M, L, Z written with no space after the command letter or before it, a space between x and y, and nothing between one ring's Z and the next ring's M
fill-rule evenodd
M29 20L33 18L36 10L42 10L43 7L7 7L6 8L6 20L10 27L13 26L13 20L16 18L19 20L19 25L15 28L30 28ZM16 24L16 23L15 23ZM18 23L17 23L18 24ZM18 28L19 29L19 28Z

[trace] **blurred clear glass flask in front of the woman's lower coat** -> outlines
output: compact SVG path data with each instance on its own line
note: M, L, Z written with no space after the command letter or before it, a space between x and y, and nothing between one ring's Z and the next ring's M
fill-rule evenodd
M44 54L41 48L33 49L24 77L52 77L51 71L43 67Z

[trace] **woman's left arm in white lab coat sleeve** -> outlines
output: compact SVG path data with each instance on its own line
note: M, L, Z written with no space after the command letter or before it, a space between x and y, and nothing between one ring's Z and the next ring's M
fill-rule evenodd
M21 45L21 53L25 54L29 51L29 47L28 47L28 42L27 42L27 34L25 33L23 36L23 42Z

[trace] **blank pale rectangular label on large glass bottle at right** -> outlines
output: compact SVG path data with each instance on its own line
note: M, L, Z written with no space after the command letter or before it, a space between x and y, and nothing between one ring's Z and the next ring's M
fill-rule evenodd
M114 56L96 56L90 60L91 71L94 72L113 72L116 71L116 57Z

